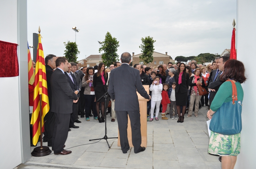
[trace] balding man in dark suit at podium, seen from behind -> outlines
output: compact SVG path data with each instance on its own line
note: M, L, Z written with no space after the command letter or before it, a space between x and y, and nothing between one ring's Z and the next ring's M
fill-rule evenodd
M115 100L115 111L123 153L127 153L130 149L127 137L127 115L129 115L131 121L134 153L138 153L146 148L140 146L140 106L136 90L148 100L150 100L150 96L142 86L140 71L129 66L132 61L131 54L123 53L120 60L122 66L113 69L110 73L108 94ZM120 77L122 77L122 80L120 80Z

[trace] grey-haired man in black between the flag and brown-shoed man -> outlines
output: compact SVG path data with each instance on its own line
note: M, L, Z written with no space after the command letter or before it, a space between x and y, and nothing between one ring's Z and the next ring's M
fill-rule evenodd
M55 116L52 113L52 87L51 87L51 77L53 73L53 69L56 68L56 56L53 54L48 54L45 57L45 71L46 71L46 81L47 81L47 90L48 90L48 98L49 98L49 106L50 109L48 113L44 117L44 138L43 142L47 142L48 146L52 146L52 135L53 135L53 128L55 122Z

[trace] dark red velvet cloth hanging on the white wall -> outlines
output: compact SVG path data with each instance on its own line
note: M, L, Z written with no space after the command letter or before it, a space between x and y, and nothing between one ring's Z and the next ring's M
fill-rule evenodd
M0 40L0 77L19 76L18 44Z

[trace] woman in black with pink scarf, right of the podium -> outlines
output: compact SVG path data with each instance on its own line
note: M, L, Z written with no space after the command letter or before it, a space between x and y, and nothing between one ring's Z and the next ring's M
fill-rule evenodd
M186 111L187 98L188 98L188 85L189 85L189 74L186 73L186 66L184 63L180 63L175 76L176 88L175 88L175 99L176 107L178 111L179 119L177 123L183 123L184 115ZM182 114L181 109L182 107Z

